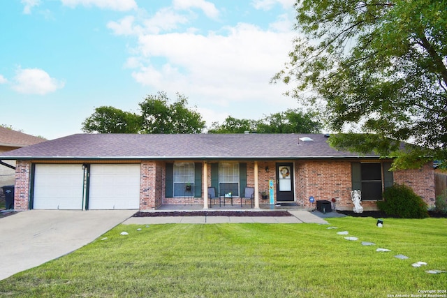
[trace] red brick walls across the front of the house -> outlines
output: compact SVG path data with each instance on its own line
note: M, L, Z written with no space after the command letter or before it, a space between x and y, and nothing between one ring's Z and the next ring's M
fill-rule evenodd
M136 161L135 161L136 162ZM381 161L376 161L381 162ZM79 163L79 161L78 161ZM306 209L315 209L316 202L309 202L312 196L316 200L335 199L336 208L339 210L351 210L351 161L295 161L294 163L294 191L295 202ZM140 210L152 210L162 204L200 204L203 198L165 198L166 189L166 164L163 161L140 161ZM247 162L247 186L254 186L253 161ZM276 161L258 162L258 189L259 192L269 190L269 181L276 181ZM202 167L203 169L203 167ZM207 184L211 185L211 167L207 167ZM15 209L23 211L29 209L31 162L17 161L15 171ZM418 170L404 170L393 172L393 180L396 184L406 184L413 188L429 205L434 204L434 171L429 163ZM276 183L274 194L276 201ZM202 184L203 193L203 184ZM260 204L268 204L269 199L262 200ZM239 204L240 199L235 198L234 204ZM376 201L364 201L365 210L376 209Z

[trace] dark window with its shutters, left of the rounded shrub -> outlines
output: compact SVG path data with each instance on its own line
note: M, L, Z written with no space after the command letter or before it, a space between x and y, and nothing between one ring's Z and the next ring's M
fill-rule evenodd
M382 200L383 188L393 185L391 163L352 163L352 189L360 189L362 200Z

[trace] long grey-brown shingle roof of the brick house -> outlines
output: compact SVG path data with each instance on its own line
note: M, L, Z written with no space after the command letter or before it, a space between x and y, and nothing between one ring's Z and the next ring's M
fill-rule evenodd
M312 141L303 141L309 137ZM301 139L301 140L300 140ZM323 134L76 134L1 154L1 159L358 158ZM364 157L378 158L377 155Z

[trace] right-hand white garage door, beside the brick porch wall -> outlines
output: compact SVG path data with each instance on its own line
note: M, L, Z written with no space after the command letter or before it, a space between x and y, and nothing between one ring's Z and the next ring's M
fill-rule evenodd
M140 165L90 165L89 209L139 209Z

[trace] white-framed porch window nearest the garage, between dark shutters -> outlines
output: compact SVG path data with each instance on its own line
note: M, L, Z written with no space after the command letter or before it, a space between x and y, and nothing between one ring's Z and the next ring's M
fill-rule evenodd
M194 163L174 163L174 197L194 195Z

